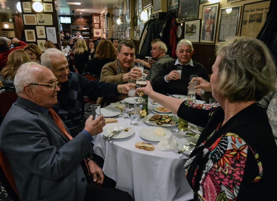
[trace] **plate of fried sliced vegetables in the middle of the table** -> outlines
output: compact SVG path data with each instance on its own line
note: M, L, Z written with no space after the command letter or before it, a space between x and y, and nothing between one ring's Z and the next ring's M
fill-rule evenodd
M143 121L152 126L171 127L172 116L168 114L154 114L144 117ZM173 125L178 122L173 122Z

